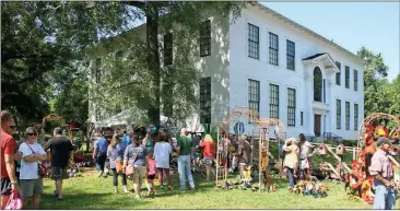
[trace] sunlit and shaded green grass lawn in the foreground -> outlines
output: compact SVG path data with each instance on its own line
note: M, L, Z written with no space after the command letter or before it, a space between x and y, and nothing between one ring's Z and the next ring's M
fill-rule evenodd
M212 181L195 177L195 191L179 191L178 178L172 176L174 190L166 191L157 188L155 198L143 197L136 200L132 194L113 192L113 178L97 178L96 173L87 171L83 177L70 178L64 181L64 200L57 201L54 196L54 183L45 180L45 195L40 209L77 209L77 210L131 210L131 209L372 209L361 200L349 199L344 185L329 184L328 197L315 199L289 194L286 180L272 180L280 189L277 192L252 192L251 190L215 189ZM120 179L119 181L120 183ZM128 181L128 188L132 183ZM143 189L144 190L144 189ZM146 191L143 191L145 194ZM399 204L400 201L397 201Z

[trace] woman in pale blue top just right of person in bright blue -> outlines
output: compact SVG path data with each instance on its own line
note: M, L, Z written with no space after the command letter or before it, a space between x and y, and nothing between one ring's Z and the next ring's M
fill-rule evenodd
M118 134L114 134L110 144L107 149L107 156L109 159L109 167L113 171L113 184L114 184L114 191L118 192L118 173L117 173L117 164L116 162L119 162L120 165L122 165L123 160L123 145L120 143L121 137ZM122 173L120 174L122 186L123 186L123 192L129 192L127 187L127 176Z

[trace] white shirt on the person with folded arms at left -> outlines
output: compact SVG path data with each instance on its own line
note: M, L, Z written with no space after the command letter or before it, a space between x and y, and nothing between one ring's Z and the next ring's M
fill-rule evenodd
M28 143L26 143L26 142L21 143L20 149L19 149L19 151L22 152L21 168L20 168L20 179L37 179L37 178L39 178L37 164L40 163L40 162L26 163L24 161L24 157L34 154L32 152L32 150L37 155L39 155L39 154L46 154L46 152L42 148L42 145L38 144L38 143L30 144L30 146L32 148L32 150L31 150L30 146L27 146L27 144Z

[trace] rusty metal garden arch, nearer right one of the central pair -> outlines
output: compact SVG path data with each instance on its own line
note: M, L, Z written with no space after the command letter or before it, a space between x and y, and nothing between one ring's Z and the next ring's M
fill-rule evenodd
M286 128L284 125L275 118L264 118L259 119L256 122L256 126L259 129L259 162L258 162L258 168L259 168L259 190L261 191L261 178L264 178L264 187L266 191L268 191L270 187L270 174L269 174L269 148L270 148L270 129L274 129L274 134L278 140L278 143L280 140L286 139ZM280 171L281 172L281 171Z

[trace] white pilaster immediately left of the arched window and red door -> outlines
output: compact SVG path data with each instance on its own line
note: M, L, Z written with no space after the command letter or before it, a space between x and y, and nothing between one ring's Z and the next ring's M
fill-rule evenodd
M314 112L313 112L313 102L314 102L314 91L313 91L313 71L307 67L305 71L305 85L306 85L306 109L305 109L305 125L306 125L306 136L314 136Z

